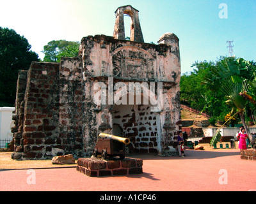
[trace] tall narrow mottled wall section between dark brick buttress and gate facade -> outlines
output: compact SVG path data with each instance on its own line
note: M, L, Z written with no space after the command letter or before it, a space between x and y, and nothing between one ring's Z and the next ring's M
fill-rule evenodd
M83 66L79 57L60 62L59 139L65 154L82 156L84 126Z

